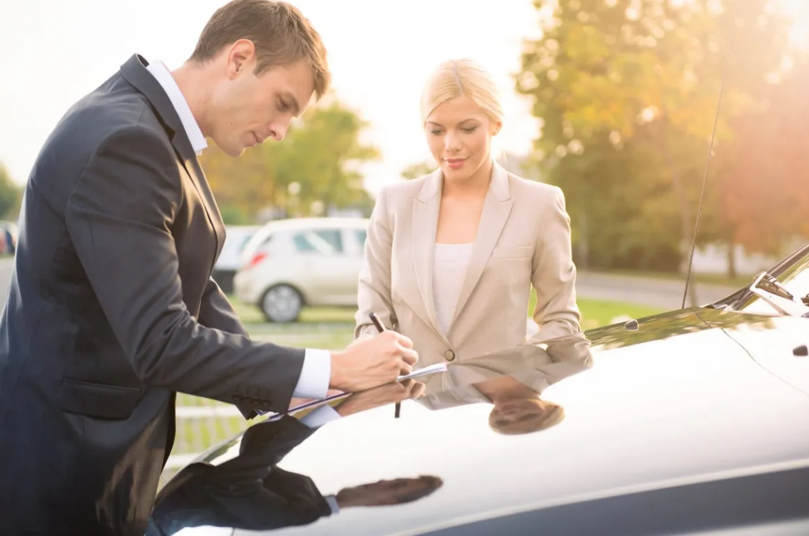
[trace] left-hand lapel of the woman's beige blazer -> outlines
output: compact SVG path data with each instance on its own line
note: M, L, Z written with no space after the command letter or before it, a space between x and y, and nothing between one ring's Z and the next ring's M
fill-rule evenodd
M438 328L435 319L435 303L433 299L433 260L435 251L435 233L438 229L438 210L441 208L441 187L443 177L438 169L429 175L421 186L421 192L413 200L413 221L411 238L413 240L413 268L416 272L418 291L427 314L425 319L433 327L438 336L447 342L447 338Z

